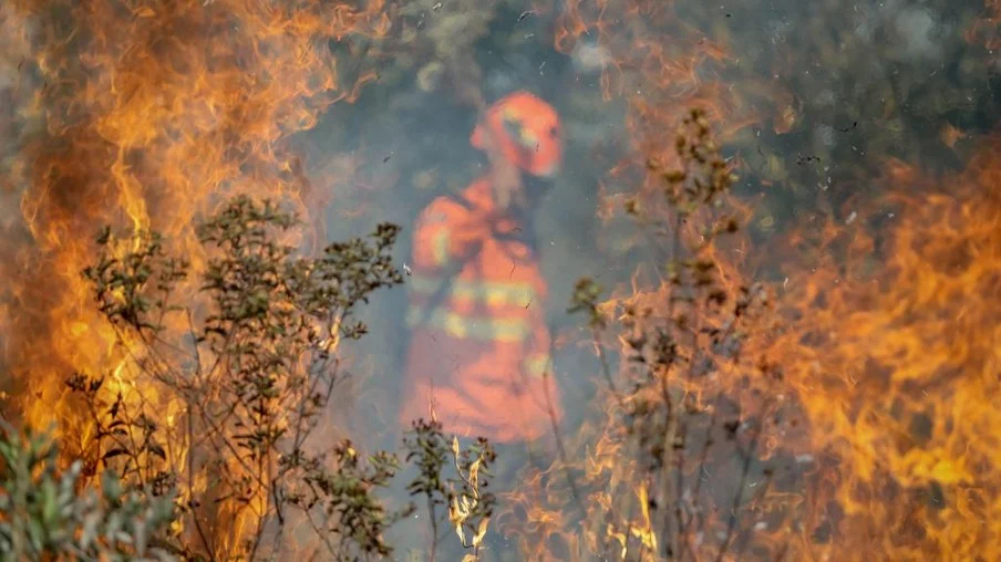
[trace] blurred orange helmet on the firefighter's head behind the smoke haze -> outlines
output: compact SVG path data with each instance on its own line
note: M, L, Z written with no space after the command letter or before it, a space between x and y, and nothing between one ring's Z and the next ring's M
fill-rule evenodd
M538 177L551 177L563 162L559 115L528 92L509 94L487 110L469 142L485 150L486 134L500 154L518 168Z

